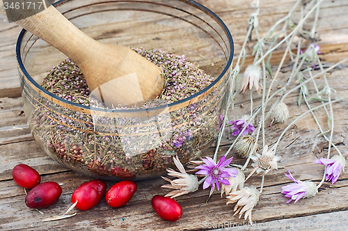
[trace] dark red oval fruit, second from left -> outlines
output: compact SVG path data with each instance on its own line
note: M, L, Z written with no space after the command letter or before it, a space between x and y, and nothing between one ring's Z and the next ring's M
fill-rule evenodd
M56 202L61 193L61 186L56 182L43 182L26 194L25 204L29 208L43 209Z

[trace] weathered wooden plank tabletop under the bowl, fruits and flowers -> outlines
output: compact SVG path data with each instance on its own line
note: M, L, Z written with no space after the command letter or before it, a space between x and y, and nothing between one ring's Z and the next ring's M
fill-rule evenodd
M199 0L198 2L212 9L226 22L235 41L235 56L237 56L246 35L248 17L253 12L250 8L251 0ZM284 17L294 3L294 0L261 0L260 33L264 33L276 20ZM319 35L317 44L321 47L320 57L326 67L348 57L347 12L347 0L325 0L322 3L317 27ZM247 226L242 226L244 220L232 216L234 205L226 206L226 199L221 199L217 192L205 202L209 190L203 191L201 188L195 193L177 198L184 213L179 221L171 223L162 220L155 214L150 204L152 196L168 192L167 189L160 188L165 183L161 179L139 182L138 191L125 207L113 209L103 200L86 212L74 209L77 215L72 218L42 223L43 218L65 212L71 205L70 198L74 189L82 182L91 179L56 164L40 149L29 132L23 112L15 60L15 42L19 31L19 26L9 24L5 17L0 17L0 230L207 230L211 228L248 230ZM282 51L276 51L272 63L279 63L282 54ZM249 56L247 61L251 60ZM329 82L337 90L339 97L348 95L347 65L348 63L340 65L328 75ZM291 63L285 64L282 78L275 86L284 84L291 69ZM294 93L285 101L290 106L292 116L306 110L306 106L296 105L297 96L298 93ZM247 113L250 106L248 101L248 96L238 95L236 109L230 113L230 118ZM254 105L258 103L260 97L255 94ZM348 151L345 145L348 142L348 102L346 100L333 107L335 111L333 143L338 145L342 154L347 157ZM324 114L319 111L318 115L322 125L325 125ZM283 128L284 125L273 125L268 128L267 144L276 141ZM229 134L230 128L226 127L220 154L226 152L232 143L229 138L232 136ZM264 191L253 209L253 221L256 225L249 227L250 230L259 230L258 228L279 230L278 227L287 230L312 230L312 228L347 230L345 228L345 217L348 215L347 175L341 175L334 185L325 182L317 196L299 200L296 204L286 205L287 198L280 193L281 187L290 183L284 175L285 170L290 170L299 180L313 180L316 183L321 180L324 166L313 164L313 161L326 156L328 143L317 134L319 129L310 116L297 122L296 126L287 132L277 152L283 157L280 161L283 168L266 176ZM214 147L207 150L204 155L213 153ZM232 154L235 164L243 164L243 160L234 152ZM12 179L11 170L19 163L29 164L38 170L42 182L55 181L62 186L61 198L55 205L42 209L44 215L26 207L24 190ZM246 185L253 184L259 187L260 179L261 177L251 177ZM107 184L111 186L114 182ZM240 226L229 228L233 224Z

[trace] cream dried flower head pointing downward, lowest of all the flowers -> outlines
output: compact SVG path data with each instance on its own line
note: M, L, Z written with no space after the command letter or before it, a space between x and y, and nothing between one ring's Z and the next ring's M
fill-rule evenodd
M255 188L255 186L244 187L244 189L232 192L226 196L228 198L226 205L237 202L233 211L236 214L239 213L239 218L244 214L244 220L249 218L249 222L251 222L251 211L255 207L256 203L259 200L260 191Z

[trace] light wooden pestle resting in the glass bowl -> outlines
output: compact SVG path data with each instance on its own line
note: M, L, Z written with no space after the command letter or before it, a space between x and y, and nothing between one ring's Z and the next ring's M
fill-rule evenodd
M21 1L24 0L19 0ZM2 0L0 13L5 16L8 13ZM128 47L105 45L93 40L77 29L54 6L35 15L28 10L20 11L20 17L19 10L14 14L11 16L18 18L13 20L15 23L74 61L81 68L92 95L106 106L145 102L147 99L154 99L163 90L164 77L157 65ZM29 17L25 17L26 15Z

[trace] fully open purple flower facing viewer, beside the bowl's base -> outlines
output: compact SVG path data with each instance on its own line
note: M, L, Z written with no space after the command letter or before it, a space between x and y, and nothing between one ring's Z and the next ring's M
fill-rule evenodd
M223 168L228 166L231 163L232 158L225 160L225 157L221 157L218 164L215 164L214 160L210 157L203 159L205 165L197 166L196 168L200 169L196 174L207 175L203 183L203 189L207 189L209 185L212 185L214 190L214 184L216 184L217 190L220 190L219 183L230 185L228 180L223 178L235 177L238 174L238 171L235 168Z

